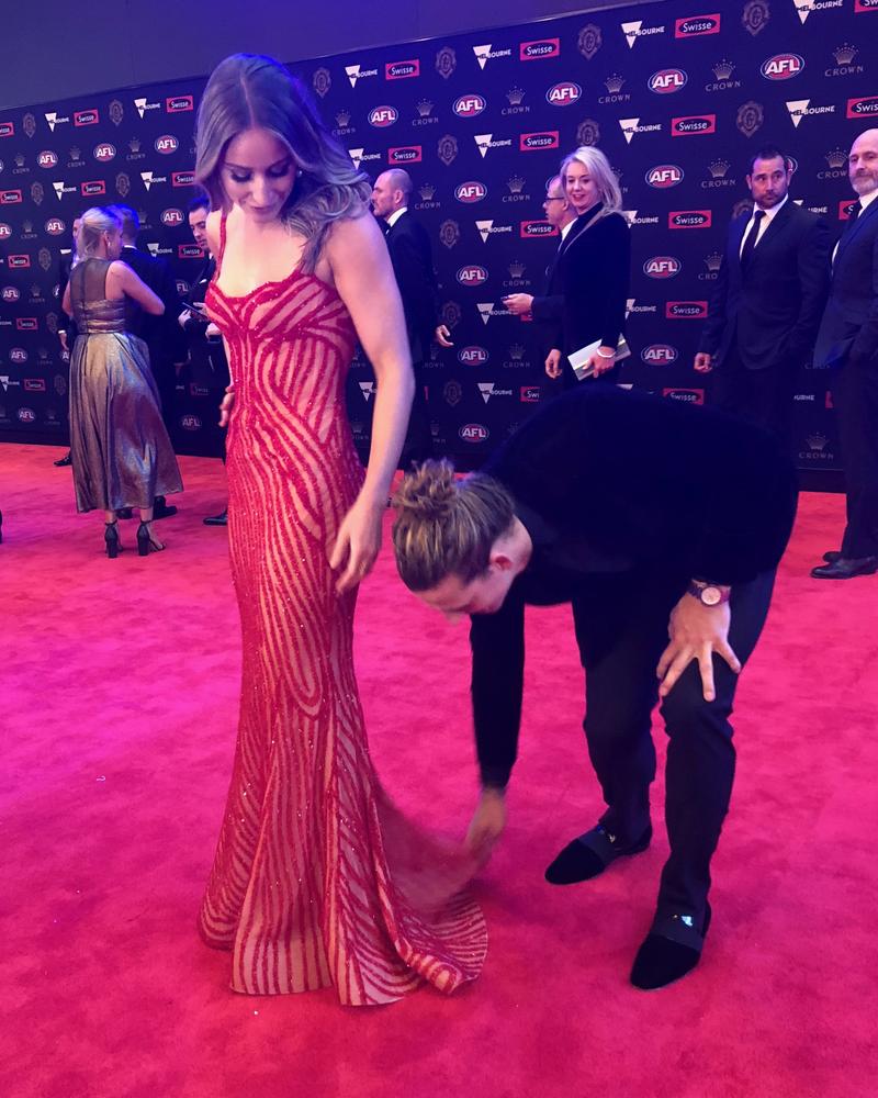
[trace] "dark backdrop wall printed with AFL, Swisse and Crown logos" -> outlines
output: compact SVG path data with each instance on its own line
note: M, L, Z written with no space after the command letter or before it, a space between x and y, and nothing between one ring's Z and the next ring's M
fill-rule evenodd
M438 448L477 464L547 399L540 333L503 298L542 291L558 244L544 188L577 145L607 154L632 225L624 382L709 403L710 379L691 362L725 227L748 197L747 156L766 142L788 150L793 198L841 232L846 154L878 115L877 13L878 0L664 3L292 66L354 163L415 181L454 340L434 348L425 376ZM203 86L0 115L3 437L66 438L58 267L78 212L133 205L140 246L172 265L182 293L201 268L185 205ZM362 450L374 391L356 359L348 400ZM183 373L177 397L178 448L213 452L213 379ZM803 366L795 401L799 464L838 468L825 373Z

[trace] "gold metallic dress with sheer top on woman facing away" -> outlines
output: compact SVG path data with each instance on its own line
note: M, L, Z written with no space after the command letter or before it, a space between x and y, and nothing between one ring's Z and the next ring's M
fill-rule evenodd
M126 332L127 298L106 299L110 260L86 259L70 276L79 335L70 360L70 456L77 511L151 507L183 484L146 344Z

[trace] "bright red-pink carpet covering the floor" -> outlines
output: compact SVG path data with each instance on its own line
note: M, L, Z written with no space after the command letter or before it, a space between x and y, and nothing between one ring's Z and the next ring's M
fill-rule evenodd
M110 561L60 452L0 446L0 1095L876 1094L878 578L808 576L837 544L842 497L803 497L744 673L698 971L654 994L627 982L662 827L590 884L542 879L600 807L569 613L550 609L530 618L509 828L479 883L484 974L451 999L353 1010L331 991L234 995L228 956L195 937L240 662L226 535L201 524L222 466L183 459L166 553ZM466 656L465 629L420 608L385 548L358 618L372 751L402 806L458 833L476 792ZM662 796L660 782L658 819Z

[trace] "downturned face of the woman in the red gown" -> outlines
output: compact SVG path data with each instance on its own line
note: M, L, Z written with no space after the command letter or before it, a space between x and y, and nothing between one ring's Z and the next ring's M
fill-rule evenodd
M219 168L230 202L258 222L280 216L295 183L290 149L268 130L245 130L226 148Z

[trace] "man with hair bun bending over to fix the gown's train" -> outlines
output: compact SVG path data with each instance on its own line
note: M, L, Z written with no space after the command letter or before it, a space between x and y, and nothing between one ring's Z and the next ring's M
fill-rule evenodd
M447 464L427 464L397 495L403 581L449 618L472 615L474 853L486 856L505 826L526 605L572 604L607 805L549 866L550 883L589 879L649 845L651 713L662 699L671 856L632 968L638 987L664 986L700 956L734 775L738 673L765 623L796 496L768 432L593 384L549 401L479 473L455 482Z

